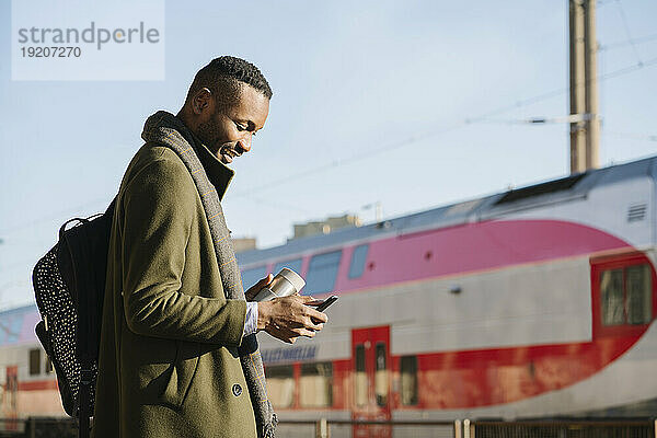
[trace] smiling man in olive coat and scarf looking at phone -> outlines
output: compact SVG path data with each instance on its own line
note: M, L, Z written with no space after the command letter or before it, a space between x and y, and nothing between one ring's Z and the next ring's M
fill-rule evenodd
M251 150L270 96L255 66L220 57L196 74L177 116L147 120L112 226L95 438L274 435L254 332L293 343L326 315L310 297L244 301L228 243L227 165Z

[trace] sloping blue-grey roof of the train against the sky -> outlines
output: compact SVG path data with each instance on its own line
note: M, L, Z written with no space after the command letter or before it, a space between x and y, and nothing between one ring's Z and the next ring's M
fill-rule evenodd
M387 219L382 222L342 228L328 234L293 239L279 246L245 251L238 254L238 261L241 266L249 266L289 258L318 249L328 250L347 243L367 242L389 234L407 234L424 229L446 228L494 219L520 209L580 198L593 187L642 176L655 178L656 175L657 155L512 188L476 199Z

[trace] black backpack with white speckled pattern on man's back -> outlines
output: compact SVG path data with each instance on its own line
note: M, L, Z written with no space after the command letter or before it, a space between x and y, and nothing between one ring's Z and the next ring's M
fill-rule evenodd
M32 274L42 316L35 332L57 373L64 410L80 420L80 437L89 436L89 417L93 415L115 205L116 198L104 214L64 223L59 241Z

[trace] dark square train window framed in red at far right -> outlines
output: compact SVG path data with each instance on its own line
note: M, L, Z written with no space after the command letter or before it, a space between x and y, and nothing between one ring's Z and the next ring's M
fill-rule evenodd
M641 325L653 319L653 279L648 264L600 273L602 325Z

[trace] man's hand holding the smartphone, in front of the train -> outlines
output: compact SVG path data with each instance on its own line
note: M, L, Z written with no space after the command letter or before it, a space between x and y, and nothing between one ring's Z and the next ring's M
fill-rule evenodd
M258 302L257 328L288 344L299 336L314 337L328 319L307 306L313 303L318 303L314 298L300 295Z

